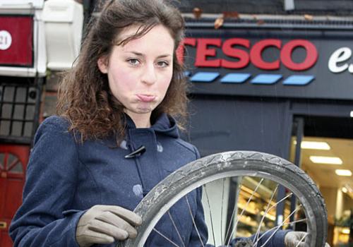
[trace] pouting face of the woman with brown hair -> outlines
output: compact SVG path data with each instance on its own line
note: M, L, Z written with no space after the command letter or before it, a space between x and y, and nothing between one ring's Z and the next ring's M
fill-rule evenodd
M137 26L126 28L119 40L137 30ZM162 102L172 80L173 51L174 40L169 31L157 25L137 40L115 45L108 59L99 59L98 67L107 73L112 94L134 121L149 120L153 109Z

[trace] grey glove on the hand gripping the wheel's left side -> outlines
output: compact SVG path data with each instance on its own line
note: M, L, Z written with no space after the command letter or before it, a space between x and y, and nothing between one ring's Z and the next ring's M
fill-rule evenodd
M140 216L123 207L95 205L80 217L76 227L76 241L80 247L88 247L95 243L134 239L137 231L133 227L141 223Z

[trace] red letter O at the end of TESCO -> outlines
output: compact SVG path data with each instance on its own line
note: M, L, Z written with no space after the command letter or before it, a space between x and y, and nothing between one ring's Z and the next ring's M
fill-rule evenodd
M296 64L292 61L292 52L297 47L306 49L306 58L303 62ZM308 40L292 40L285 44L281 51L282 63L292 71L305 71L311 68L318 60L318 51L313 43Z

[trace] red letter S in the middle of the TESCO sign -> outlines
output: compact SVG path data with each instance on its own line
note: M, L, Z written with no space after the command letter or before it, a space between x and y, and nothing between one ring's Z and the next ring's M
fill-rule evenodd
M239 61L228 61L222 59L223 68L244 68L249 64L249 54L242 49L233 48L234 45L239 44L243 47L249 48L250 41L245 39L229 39L223 43L222 50L227 56L239 59Z

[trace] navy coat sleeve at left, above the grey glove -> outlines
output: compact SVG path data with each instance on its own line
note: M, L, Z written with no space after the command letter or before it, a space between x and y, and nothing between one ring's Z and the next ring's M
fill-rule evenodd
M62 122L50 117L38 128L30 154L23 204L9 233L14 246L78 246L76 225L84 211L70 209L76 190L76 143Z

